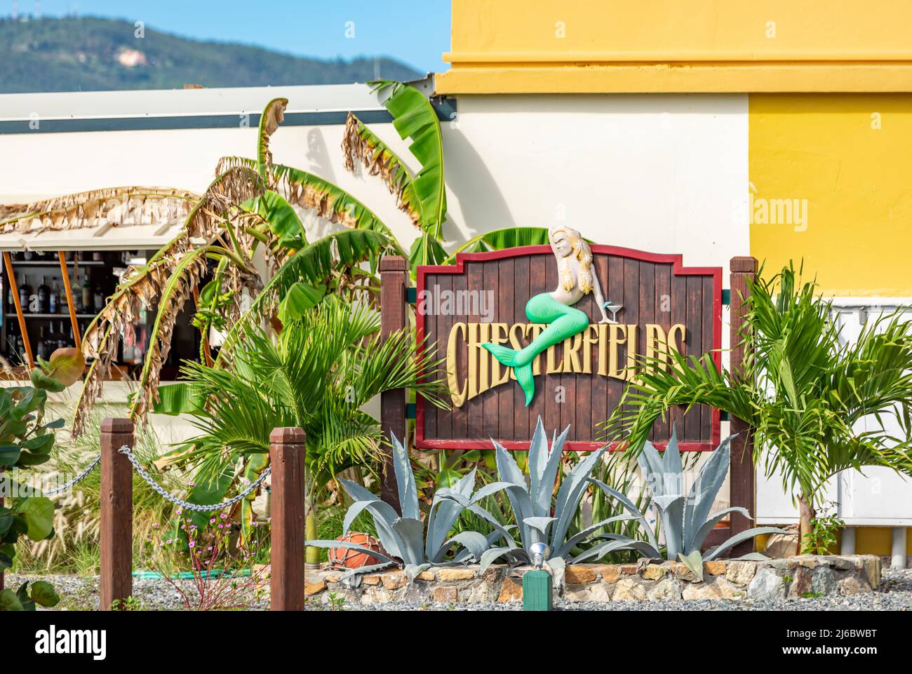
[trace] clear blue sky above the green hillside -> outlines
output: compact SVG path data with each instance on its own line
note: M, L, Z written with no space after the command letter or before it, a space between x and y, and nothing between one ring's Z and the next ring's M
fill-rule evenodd
M0 0L0 15L13 12ZM450 50L449 0L39 0L42 16L72 14L144 21L147 27L321 58L391 56L440 72ZM18 0L35 14L36 0ZM347 22L354 36L347 37ZM348 30L349 34L351 30Z

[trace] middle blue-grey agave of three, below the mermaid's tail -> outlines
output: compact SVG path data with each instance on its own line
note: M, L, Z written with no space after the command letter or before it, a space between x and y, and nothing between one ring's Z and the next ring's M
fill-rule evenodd
M584 543L606 524L630 519L629 515L609 517L587 526L582 531L570 534L579 503L589 487L589 476L606 448L592 452L565 475L552 503L554 483L560 470L561 454L569 431L570 427L567 426L559 436L555 432L549 450L542 418L538 418L532 442L529 444L528 481L510 452L495 441L493 444L500 482L482 487L471 499L465 499L455 493L444 494L444 498L456 501L470 510L482 498L492 493L504 491L507 494L513 516L519 525L521 545L517 545L511 537L506 538L507 544L485 551L481 556L482 571L501 558L506 558L511 564L531 564L531 546L544 543L551 551L546 562L553 571L559 573L564 566L565 558L576 545Z

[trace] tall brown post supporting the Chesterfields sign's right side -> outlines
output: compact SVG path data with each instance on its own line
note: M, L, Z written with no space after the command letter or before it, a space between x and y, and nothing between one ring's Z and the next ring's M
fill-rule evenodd
M744 323L746 307L744 301L750 293L748 281L757 276L757 260L753 257L731 258L731 374L735 378L742 376L742 364L746 356L746 349L750 345L742 344L745 337ZM753 470L753 432L744 420L731 417L731 433L738 433L738 437L731 442L731 472L729 482L731 495L729 498L732 507L740 505L747 508L751 516L757 513L755 503L755 482ZM747 531L753 524L741 514L732 513L729 534L740 534ZM731 557L740 557L753 552L754 539L744 541L731 548Z

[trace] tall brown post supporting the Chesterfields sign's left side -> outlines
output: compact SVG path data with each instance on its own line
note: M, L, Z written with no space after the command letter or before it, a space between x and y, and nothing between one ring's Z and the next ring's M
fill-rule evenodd
M380 334L390 333L406 327L405 284L408 278L409 262L400 255L387 255L380 261ZM380 394L380 430L385 441L395 435L403 447L408 447L406 434L405 389L384 391ZM399 511L399 488L396 472L393 470L393 456L389 447L384 448L383 476L380 483L380 498Z

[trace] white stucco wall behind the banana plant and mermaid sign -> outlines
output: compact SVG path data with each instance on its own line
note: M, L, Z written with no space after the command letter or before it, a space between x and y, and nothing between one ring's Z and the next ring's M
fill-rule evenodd
M306 88L293 89L288 110L305 109L299 91ZM251 109L281 93L258 93L263 100L251 101ZM442 125L444 233L455 247L491 229L566 223L598 243L727 267L749 244L746 213L741 217L735 208L746 197L747 124L741 95L462 97L455 119ZM418 168L391 124L371 127ZM408 247L416 230L385 186L345 171L342 131L341 125L280 127L272 143L275 161L352 192ZM6 160L0 202L116 185L202 192L220 157L252 157L255 142L249 127L0 135ZM314 234L326 231L314 219L308 225Z

